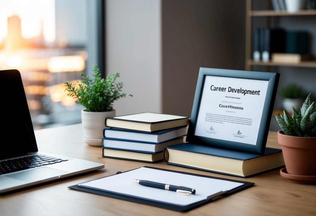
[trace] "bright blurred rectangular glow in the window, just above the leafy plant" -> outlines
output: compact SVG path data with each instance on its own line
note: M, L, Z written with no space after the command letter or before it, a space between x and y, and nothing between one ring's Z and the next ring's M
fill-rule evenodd
M48 71L52 73L83 71L85 67L84 58L79 55L55 56L48 61Z

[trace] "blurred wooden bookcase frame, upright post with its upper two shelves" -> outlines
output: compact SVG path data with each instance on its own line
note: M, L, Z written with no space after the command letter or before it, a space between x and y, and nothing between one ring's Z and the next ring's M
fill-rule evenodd
M270 1L270 0L268 0ZM316 68L315 61L302 61L301 63L275 63L252 60L252 19L254 17L273 17L273 16L316 16L316 10L300 10L295 13L288 13L287 11L274 10L252 10L252 0L246 0L246 52L245 52L245 69L251 70L253 65L259 66L290 66L290 67L310 67ZM266 25L270 26L269 21Z

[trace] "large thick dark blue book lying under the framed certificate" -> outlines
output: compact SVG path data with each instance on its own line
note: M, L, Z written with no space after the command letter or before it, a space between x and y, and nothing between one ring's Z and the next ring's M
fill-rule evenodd
M167 164L239 177L266 172L284 166L281 149L265 148L264 155L182 143L163 152Z

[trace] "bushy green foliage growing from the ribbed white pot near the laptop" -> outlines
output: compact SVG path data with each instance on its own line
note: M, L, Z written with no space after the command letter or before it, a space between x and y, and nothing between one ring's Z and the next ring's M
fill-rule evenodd
M122 97L133 96L129 93L121 93L123 82L115 82L119 73L101 77L99 67L94 64L94 79L82 73L85 79L78 83L65 82L68 95L77 98L76 103L85 106L88 112L104 112L113 110L113 102Z

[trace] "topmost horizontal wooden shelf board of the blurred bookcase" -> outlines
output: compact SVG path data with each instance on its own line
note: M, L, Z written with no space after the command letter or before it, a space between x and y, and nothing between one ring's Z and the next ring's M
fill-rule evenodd
M295 13L289 13L287 11L275 11L275 10L251 10L248 11L248 16L310 16L316 15L316 10L300 10Z

